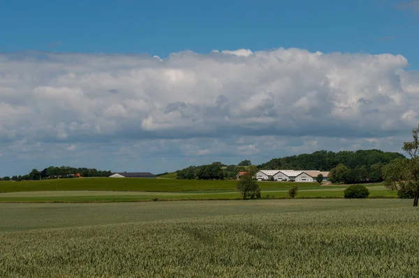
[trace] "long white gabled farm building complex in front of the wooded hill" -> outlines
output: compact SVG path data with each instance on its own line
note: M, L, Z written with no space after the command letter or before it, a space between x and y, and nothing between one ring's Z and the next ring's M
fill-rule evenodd
M258 181L270 180L273 177L276 181L315 182L318 174L323 175L323 180L328 180L329 172L314 170L260 170L253 177Z

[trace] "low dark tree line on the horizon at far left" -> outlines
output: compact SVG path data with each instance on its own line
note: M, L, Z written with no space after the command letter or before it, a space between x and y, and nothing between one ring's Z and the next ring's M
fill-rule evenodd
M111 171L97 170L95 168L73 168L69 166L54 167L50 166L43 170L31 170L26 175L14 175L13 177L3 177L1 180L13 180L19 182L21 180L45 180L57 178L73 178L73 177L109 177Z

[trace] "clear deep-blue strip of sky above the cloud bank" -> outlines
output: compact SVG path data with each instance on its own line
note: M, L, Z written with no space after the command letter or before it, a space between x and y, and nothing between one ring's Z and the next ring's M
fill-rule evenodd
M413 1L414 2L414 1ZM418 67L418 17L403 1L7 1L1 52L149 53L299 47L403 54ZM417 4L419 6L419 4ZM410 12L409 12L410 10Z

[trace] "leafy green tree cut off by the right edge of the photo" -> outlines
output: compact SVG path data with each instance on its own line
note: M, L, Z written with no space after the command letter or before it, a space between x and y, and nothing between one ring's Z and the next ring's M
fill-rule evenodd
M410 159L395 159L383 168L384 184L388 189L415 192L413 207L419 199L419 125L412 130L413 141L403 142L402 149Z

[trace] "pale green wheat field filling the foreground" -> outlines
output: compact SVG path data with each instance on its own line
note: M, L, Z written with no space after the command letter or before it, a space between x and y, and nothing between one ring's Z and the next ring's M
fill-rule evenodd
M418 277L411 200L0 204L0 277Z

